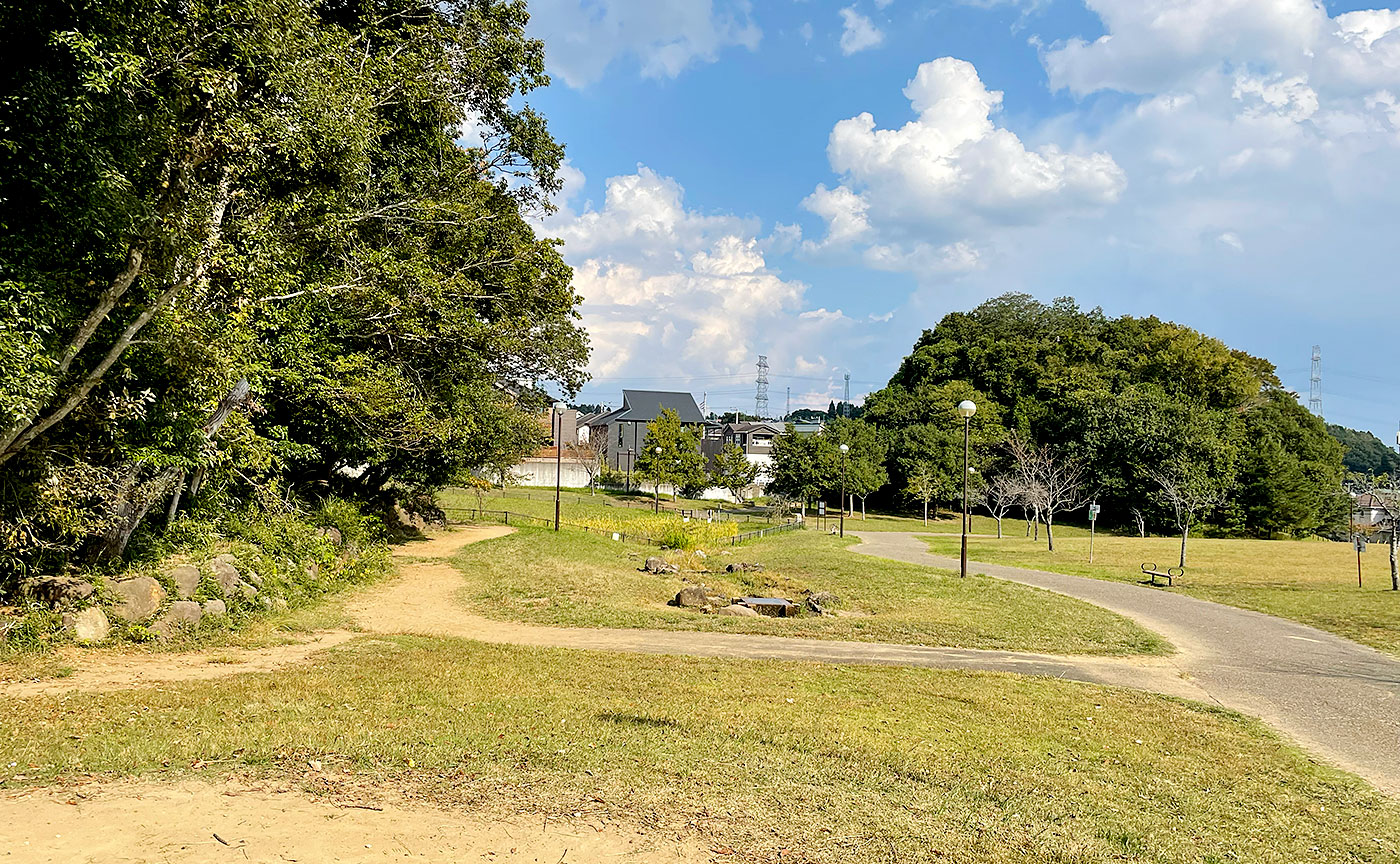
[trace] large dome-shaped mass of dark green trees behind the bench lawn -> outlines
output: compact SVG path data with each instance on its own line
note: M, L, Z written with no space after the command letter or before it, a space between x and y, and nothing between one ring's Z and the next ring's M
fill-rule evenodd
M890 436L899 487L916 471L960 486L962 398L977 403L973 465L1005 469L998 436L1016 431L1086 466L1103 524L1141 510L1158 527L1175 514L1154 473L1205 472L1228 490L1208 518L1217 531L1326 534L1340 517L1341 450L1282 389L1274 367L1156 318L1107 318L1072 300L1007 294L925 330L865 420Z

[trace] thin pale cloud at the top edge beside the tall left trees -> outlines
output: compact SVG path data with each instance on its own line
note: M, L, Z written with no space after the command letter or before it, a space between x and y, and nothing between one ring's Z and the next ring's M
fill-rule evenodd
M762 31L748 0L532 0L532 36L570 87L598 81L620 57L647 78L675 78L725 48L755 50Z

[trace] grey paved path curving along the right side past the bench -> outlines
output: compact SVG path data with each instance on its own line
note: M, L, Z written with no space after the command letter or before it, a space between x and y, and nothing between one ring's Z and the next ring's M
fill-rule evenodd
M862 555L958 570L917 534L857 534ZM1305 625L1172 591L976 563L976 573L1064 594L1155 630L1207 700L1400 793L1400 660ZM1138 686L1152 688L1142 682ZM1154 688L1155 689L1155 688Z

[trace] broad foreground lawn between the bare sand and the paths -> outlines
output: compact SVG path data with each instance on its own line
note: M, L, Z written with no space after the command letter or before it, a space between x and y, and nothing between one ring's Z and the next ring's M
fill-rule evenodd
M14 702L0 746L10 788L311 781L316 759L444 804L690 826L741 861L1400 856L1400 807L1254 720L1011 675L364 639L279 674Z

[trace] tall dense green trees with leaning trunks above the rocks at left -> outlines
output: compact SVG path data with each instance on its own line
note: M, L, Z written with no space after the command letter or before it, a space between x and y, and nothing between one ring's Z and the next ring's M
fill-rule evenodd
M577 391L587 337L526 221L563 148L524 101L525 24L517 0L3 17L27 59L0 70L0 591L192 508L388 506L539 445L531 382Z

